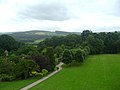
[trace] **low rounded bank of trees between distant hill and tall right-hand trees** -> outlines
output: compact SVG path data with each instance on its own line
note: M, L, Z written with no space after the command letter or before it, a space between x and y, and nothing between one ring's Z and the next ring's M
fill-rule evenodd
M78 47L81 43L81 36L77 34L70 34L67 36L54 36L52 38L47 38L44 41L40 42L38 45L39 51L43 50L46 47L57 47L61 46L64 50L65 48L71 49Z

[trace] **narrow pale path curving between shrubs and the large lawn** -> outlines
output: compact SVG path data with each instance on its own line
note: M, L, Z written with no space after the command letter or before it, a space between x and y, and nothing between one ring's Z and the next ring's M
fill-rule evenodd
M36 82L31 83L30 85L28 85L28 86L26 86L26 87L24 87L24 88L22 88L22 89L20 89L20 90L28 90L28 89L34 87L35 85L43 82L44 80L50 78L51 76L53 76L54 74L56 74L56 73L58 73L60 70L62 70L62 67L61 67L62 65L63 65L63 63L61 62L60 64L57 65L57 67L59 67L58 70L52 72L51 74L49 74L49 75L41 78L40 80L38 80L38 81L36 81Z

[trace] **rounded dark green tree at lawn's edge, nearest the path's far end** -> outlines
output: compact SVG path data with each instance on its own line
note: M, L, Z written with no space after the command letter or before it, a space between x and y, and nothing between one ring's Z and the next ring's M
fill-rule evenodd
M70 52L70 50L66 49L63 52L62 62L65 64L69 64L72 62L72 53Z

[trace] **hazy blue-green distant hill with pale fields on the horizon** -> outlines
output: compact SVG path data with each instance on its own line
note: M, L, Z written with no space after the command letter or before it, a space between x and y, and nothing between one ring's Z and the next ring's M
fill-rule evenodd
M43 31L43 30L32 30L25 32L13 32L7 33L8 35L14 37L17 41L28 42L28 43L38 43L45 38L50 38L52 36L65 36L68 34L80 34L80 32L65 32L65 31Z

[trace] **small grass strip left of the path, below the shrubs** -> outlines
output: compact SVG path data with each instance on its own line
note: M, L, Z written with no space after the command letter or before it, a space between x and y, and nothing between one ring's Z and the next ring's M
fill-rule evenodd
M26 80L17 80L11 82L0 82L0 90L19 90L24 86L38 80L39 77L29 78Z

